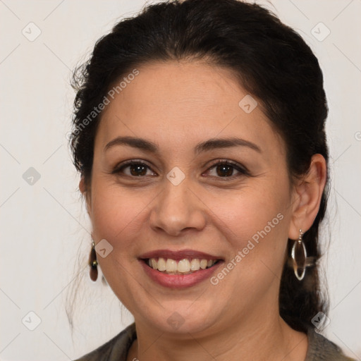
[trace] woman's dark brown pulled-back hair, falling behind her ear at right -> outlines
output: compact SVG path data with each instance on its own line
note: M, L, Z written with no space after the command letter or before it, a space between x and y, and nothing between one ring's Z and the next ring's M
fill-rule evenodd
M272 13L236 0L166 1L121 20L98 40L90 60L77 69L71 149L75 167L90 184L94 137L102 112L93 114L114 82L149 61L207 59L230 69L264 113L287 149L290 177L307 173L313 154L328 162L326 96L322 71L305 41ZM84 126L85 119L88 119ZM328 184L328 183L327 183ZM328 187L314 224L304 235L307 255L319 259L319 225ZM288 252L292 240L288 240ZM293 329L306 331L319 311L326 313L317 264L298 281L284 265L279 312ZM326 294L326 292L324 292Z

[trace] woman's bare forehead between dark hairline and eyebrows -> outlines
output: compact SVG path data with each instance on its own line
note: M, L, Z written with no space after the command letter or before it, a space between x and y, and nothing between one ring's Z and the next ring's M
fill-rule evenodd
M250 94L226 68L169 61L147 63L137 71L106 106L98 143L117 135L147 137L167 147L217 135L240 135L265 145L279 141L260 106L251 112L240 106Z

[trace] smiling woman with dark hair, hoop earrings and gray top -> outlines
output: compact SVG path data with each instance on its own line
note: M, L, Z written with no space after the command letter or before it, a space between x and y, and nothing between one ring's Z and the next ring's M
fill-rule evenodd
M79 360L350 360L314 331L327 106L302 38L255 4L172 1L75 80L90 276L135 319Z

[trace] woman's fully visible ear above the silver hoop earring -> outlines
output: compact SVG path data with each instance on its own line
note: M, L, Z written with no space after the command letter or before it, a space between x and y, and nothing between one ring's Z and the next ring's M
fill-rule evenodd
M319 212L322 192L326 184L327 165L321 154L314 154L307 174L294 185L293 213L288 238L296 240L300 229L308 231Z

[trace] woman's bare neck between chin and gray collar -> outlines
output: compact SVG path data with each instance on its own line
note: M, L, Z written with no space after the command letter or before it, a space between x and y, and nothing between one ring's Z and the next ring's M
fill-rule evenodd
M307 352L307 335L291 329L278 313L273 318L258 314L247 322L233 322L216 333L202 335L175 336L141 322L135 324L137 340L127 360L301 361Z

